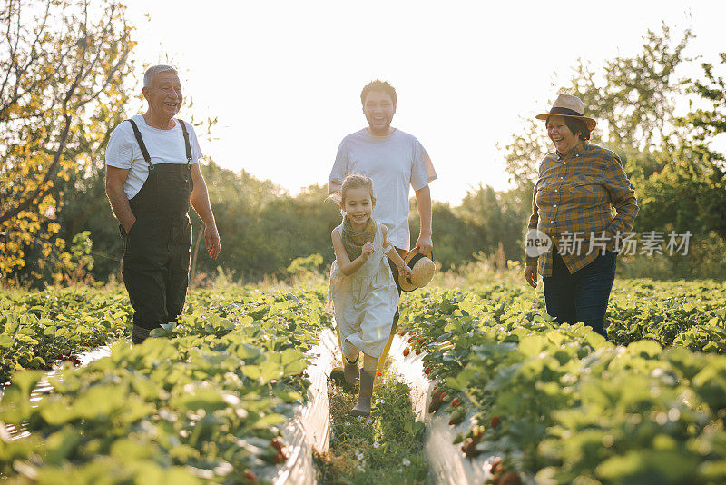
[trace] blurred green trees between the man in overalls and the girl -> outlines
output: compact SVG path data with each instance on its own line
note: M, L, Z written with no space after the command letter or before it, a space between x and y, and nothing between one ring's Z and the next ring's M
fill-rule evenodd
M210 191L211 207L220 231L222 252L216 261L205 257L200 241L203 223L192 216L192 262L196 274L214 274L219 265L237 277L260 280L286 275L296 258L320 254L333 261L330 231L340 223L340 211L326 203L324 186L312 185L291 196L270 181L241 171L234 173L213 161L201 171Z

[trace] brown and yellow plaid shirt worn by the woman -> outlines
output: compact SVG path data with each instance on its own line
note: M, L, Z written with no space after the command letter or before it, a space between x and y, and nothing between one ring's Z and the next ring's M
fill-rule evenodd
M637 213L635 192L620 158L584 141L565 156L553 152L544 157L528 228L552 238L553 250L573 273L594 262L603 248L615 252L616 238L633 228ZM525 255L525 260L537 263L541 275L552 276L552 251Z

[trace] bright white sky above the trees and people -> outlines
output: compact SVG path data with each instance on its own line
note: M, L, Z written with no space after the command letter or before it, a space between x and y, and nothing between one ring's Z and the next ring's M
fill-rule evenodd
M479 183L508 186L505 144L521 117L549 110L578 58L596 68L637 54L663 21L676 42L692 28L692 55L716 62L726 48L722 2L125 4L140 68L171 59L194 100L181 117L218 118L202 151L291 193L327 183L341 139L366 125L359 94L372 79L396 87L393 126L430 154L434 199L457 204Z

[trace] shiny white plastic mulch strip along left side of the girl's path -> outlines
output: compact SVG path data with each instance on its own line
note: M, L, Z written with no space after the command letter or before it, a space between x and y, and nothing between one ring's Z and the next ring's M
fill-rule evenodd
M308 402L300 406L295 416L282 427L285 441L289 445L286 450L289 458L278 469L279 472L274 478L276 484L317 482L312 450L324 453L330 444L328 376L339 352L338 337L330 329L320 332L318 345L308 351Z

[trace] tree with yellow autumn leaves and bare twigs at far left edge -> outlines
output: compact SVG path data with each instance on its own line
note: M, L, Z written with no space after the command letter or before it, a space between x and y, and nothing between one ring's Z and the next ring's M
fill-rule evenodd
M29 252L37 278L63 250L57 185L97 156L132 66L123 5L38 4L5 0L0 12L0 277L15 282Z

